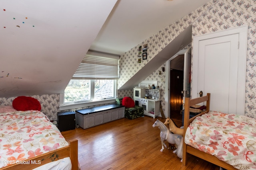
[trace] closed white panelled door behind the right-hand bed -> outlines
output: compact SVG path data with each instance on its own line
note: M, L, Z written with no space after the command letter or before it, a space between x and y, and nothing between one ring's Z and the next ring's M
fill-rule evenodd
M237 43L237 34L199 43L198 90L212 93L211 109L224 113L234 113L236 104Z

